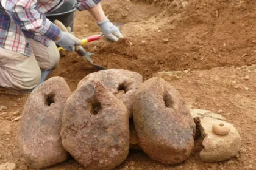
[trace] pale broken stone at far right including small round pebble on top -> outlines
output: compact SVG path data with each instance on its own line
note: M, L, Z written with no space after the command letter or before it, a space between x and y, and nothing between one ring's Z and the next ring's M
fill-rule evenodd
M224 161L238 153L241 148L241 137L232 124L216 118L198 118L200 121L197 125L204 146L204 149L200 152L200 158L203 161L208 163ZM219 129L216 129L216 127Z

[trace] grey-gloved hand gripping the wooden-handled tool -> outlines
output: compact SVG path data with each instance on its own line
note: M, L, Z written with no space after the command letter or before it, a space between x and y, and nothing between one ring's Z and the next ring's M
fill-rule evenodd
M54 41L56 44L58 44L63 49L73 51L74 52L74 46L79 46L82 41L78 38L76 38L73 34L69 32L60 32L60 38L56 41Z

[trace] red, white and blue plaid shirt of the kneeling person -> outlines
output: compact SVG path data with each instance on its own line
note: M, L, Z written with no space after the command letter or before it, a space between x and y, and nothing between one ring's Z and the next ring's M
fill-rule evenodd
M0 0L0 47L30 56L26 38L45 46L60 34L60 29L43 13L58 9L67 0ZM78 0L77 10L87 10L101 0Z

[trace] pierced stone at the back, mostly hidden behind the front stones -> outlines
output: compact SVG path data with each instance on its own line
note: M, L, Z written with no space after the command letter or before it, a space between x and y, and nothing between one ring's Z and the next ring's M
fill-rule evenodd
M121 69L101 70L87 75L78 84L78 87L87 81L98 79L118 99L126 105L129 117L132 117L132 101L138 87L143 83L143 78L136 72Z

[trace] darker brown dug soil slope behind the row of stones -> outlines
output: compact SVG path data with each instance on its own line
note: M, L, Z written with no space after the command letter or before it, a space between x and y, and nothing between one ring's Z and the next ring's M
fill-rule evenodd
M108 69L132 70L144 79L160 71L208 70L256 63L256 37L252 34L256 31L252 26L256 2L199 0L187 1L185 7L180 1L144 2L151 5L104 1L106 13L113 22L121 23L125 38L113 44L101 39L85 45L88 52L94 53L91 56L94 63ZM81 19L84 17L87 19ZM87 12L77 14L75 25L79 38L100 31ZM59 67L52 75L68 78L71 89L95 71L88 70L76 53L65 56Z

